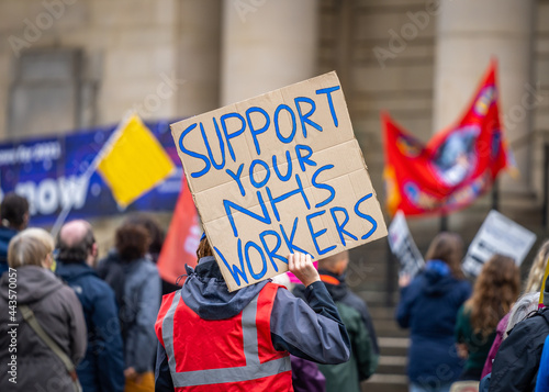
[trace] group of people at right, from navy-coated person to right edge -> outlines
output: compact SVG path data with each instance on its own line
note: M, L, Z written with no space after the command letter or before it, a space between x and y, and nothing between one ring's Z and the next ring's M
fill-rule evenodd
M493 255L472 287L461 272L462 256L461 238L440 233L425 268L413 279L400 278L396 321L411 329L410 391L549 391L544 387L549 385L549 347L542 356L549 293L540 303L549 240L539 248L524 290L514 259Z

